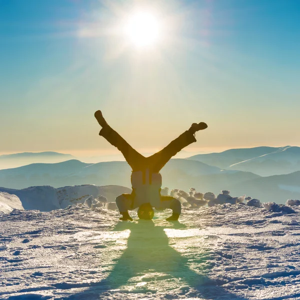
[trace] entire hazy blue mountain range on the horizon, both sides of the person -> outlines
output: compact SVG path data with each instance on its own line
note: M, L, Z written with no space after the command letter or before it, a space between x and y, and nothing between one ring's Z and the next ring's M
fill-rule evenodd
M56 152L19 153L9 157L39 156L42 159L49 155L68 157ZM0 157L3 159L3 155ZM300 148L295 146L229 149L186 159L174 158L161 170L162 184L169 189L188 190L194 187L201 192L214 193L229 189L233 196L246 194L261 201L284 203L288 198L300 199L299 161ZM21 189L37 185L57 188L65 185L116 184L130 188L130 173L131 169L125 161L85 163L70 159L0 169L0 186Z

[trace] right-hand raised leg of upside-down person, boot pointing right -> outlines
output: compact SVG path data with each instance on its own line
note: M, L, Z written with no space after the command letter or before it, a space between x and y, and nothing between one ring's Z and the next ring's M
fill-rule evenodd
M172 156L196 141L194 133L198 130L207 128L206 123L193 123L188 130L180 134L177 138L171 141L166 147L159 152L147 157L148 163L151 165L153 172L159 172L160 169L170 160Z

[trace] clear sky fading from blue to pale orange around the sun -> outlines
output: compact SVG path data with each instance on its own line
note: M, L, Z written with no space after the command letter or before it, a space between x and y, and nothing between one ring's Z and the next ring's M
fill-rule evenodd
M0 0L0 154L114 155L98 109L143 153L200 121L188 152L300 145L299 53L298 0Z

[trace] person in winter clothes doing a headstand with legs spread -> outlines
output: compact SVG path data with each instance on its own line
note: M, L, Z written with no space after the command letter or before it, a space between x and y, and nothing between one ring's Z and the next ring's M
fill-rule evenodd
M157 210L172 209L172 215L166 220L178 220L181 213L181 203L174 197L160 195L161 175L159 171L173 155L192 142L195 142L194 133L207 128L207 125L203 122L198 124L192 123L188 130L171 141L162 150L149 157L144 157L107 124L100 110L97 110L94 116L102 127L99 135L103 136L109 143L122 152L132 169L131 194L121 194L115 199L119 212L122 215L120 220L132 221L128 210L137 207L137 215L141 219L152 219L154 207Z

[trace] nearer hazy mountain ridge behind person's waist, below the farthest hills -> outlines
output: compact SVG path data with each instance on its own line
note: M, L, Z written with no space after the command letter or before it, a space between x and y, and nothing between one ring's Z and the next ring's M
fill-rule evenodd
M34 185L121 185L130 184L131 169L125 161L84 163L68 160L59 163L33 163L0 170L0 186L25 188ZM262 201L284 203L288 198L300 199L300 171L262 177L238 170L223 170L191 159L171 159L161 170L163 186L219 193L231 190L234 196L250 195ZM2 190L6 191L6 190ZM7 191L8 192L8 191Z

